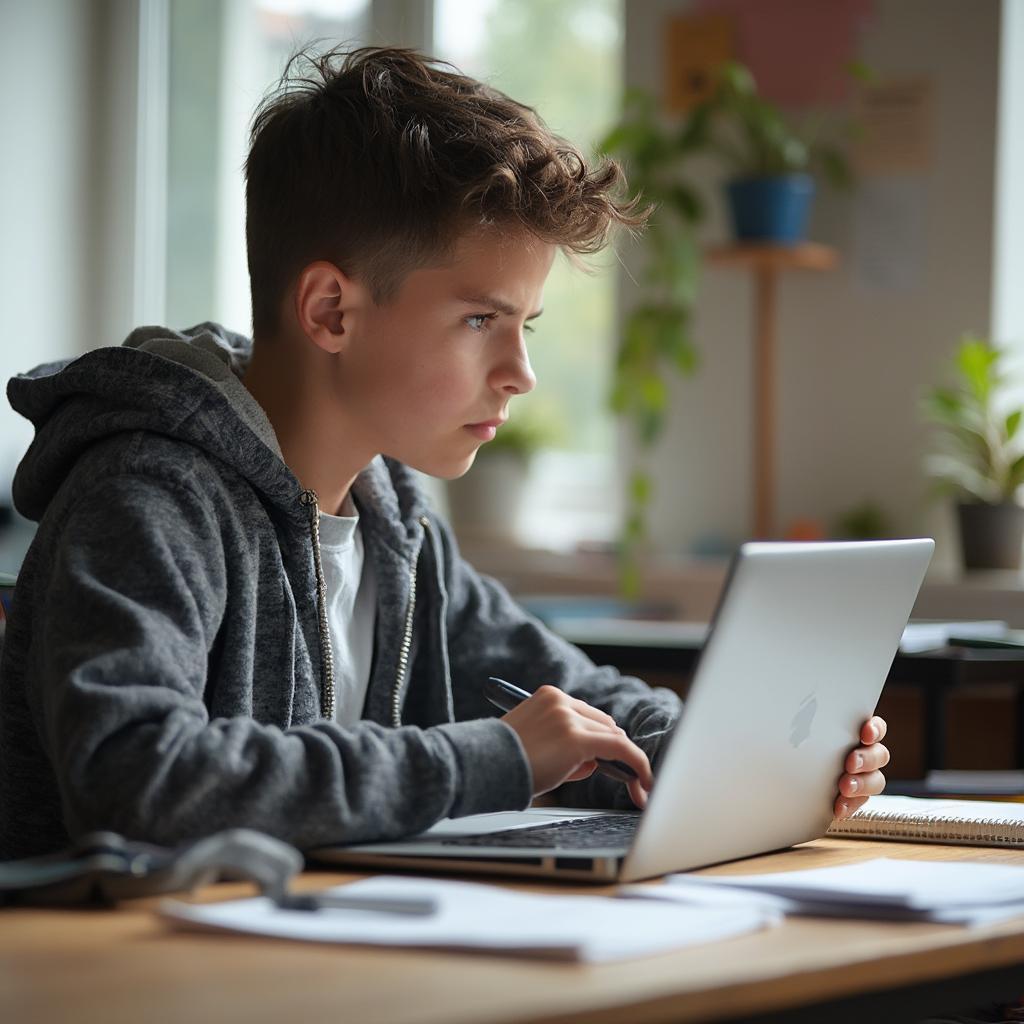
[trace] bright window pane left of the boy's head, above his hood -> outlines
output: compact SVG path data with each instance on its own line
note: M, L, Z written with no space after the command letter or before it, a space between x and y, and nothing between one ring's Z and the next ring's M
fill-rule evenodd
M248 332L243 165L253 111L313 41L365 45L370 0L172 0L167 322Z

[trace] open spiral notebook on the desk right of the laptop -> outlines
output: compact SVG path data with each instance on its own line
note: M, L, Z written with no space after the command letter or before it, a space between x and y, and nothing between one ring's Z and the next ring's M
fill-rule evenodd
M997 800L871 797L851 817L834 821L827 835L904 843L1024 847L1024 805Z

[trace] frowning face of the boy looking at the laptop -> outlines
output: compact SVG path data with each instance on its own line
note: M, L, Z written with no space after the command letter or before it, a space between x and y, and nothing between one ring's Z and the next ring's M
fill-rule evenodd
M524 331L554 255L526 232L476 231L389 302L346 313L336 392L350 439L433 476L465 473L536 384Z

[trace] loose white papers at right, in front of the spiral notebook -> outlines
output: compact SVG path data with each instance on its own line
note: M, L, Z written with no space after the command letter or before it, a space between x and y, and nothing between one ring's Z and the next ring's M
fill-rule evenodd
M1024 914L1024 866L880 857L775 874L673 874L664 886L631 886L623 895L684 906L988 925Z

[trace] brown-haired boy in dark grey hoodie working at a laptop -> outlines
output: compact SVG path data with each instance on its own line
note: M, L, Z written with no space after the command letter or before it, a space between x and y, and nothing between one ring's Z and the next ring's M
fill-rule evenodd
M477 575L407 468L466 472L534 387L556 252L641 219L618 169L368 49L304 59L246 173L252 342L142 328L10 382L36 427L14 497L40 525L3 652L0 853L93 828L366 842L566 782L642 806L678 698ZM498 717L489 675L536 693ZM881 791L884 732L865 723L837 813ZM785 799L770 764L765 799Z

